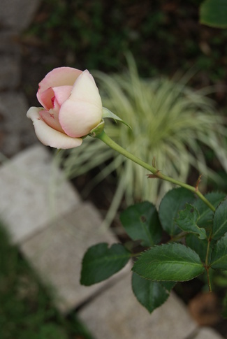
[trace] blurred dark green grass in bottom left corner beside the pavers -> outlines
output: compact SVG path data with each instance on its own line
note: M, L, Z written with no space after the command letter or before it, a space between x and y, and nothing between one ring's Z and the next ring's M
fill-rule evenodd
M0 338L91 339L75 315L65 319L52 305L52 289L43 287L0 221Z

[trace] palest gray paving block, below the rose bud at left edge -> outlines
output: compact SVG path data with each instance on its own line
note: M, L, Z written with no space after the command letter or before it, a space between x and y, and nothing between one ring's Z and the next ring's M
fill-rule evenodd
M34 145L0 167L0 217L20 243L80 203L54 166L50 152Z

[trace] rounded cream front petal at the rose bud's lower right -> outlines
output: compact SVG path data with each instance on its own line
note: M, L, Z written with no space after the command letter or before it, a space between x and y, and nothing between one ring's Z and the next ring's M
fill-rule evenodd
M59 122L68 136L87 136L101 122L100 109L91 103L66 100L59 111Z

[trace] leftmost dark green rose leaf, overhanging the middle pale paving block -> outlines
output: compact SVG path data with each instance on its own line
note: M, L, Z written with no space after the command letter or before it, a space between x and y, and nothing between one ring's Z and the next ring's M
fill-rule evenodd
M121 270L131 254L121 244L101 243L89 247L82 261L80 283L86 286L101 282Z

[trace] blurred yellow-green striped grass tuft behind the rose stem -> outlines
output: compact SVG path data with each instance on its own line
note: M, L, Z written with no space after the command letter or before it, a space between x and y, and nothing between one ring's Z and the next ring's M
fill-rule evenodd
M224 117L214 108L214 102L207 97L212 89L194 91L186 85L190 75L180 78L141 79L133 57L128 55L129 70L122 74L106 75L94 71L103 106L129 123L105 123L105 133L129 152L148 164L156 162L163 173L181 181L188 178L189 169L196 168L203 174L203 185L207 178L219 183L221 178L207 166L205 151L212 150L221 166L227 171L227 128ZM98 167L98 175L89 182L91 189L110 173L117 173L117 189L107 219L112 219L122 198L126 204L148 200L158 203L168 189L170 182L147 179L147 171L124 159L99 140L85 138L82 145L59 154L68 178L87 173ZM107 166L103 166L108 164Z

